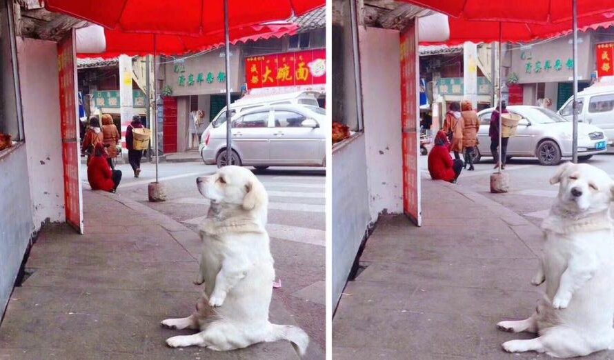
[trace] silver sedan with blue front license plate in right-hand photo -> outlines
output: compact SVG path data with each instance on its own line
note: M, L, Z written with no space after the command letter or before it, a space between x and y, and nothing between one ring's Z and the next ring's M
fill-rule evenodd
M479 117L479 145L475 160L491 156L491 138L488 136L491 114L494 108L477 113ZM556 165L563 157L572 156L573 123L552 110L537 106L508 106L507 110L519 114L515 137L507 147L507 157L537 157L542 165ZM604 131L588 123L578 123L578 159L586 161L594 154L606 151L608 139Z

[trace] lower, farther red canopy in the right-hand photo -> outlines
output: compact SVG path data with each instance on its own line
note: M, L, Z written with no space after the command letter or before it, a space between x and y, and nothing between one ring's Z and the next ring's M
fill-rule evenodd
M450 39L439 43L421 43L422 45L457 45L465 41L474 43L490 43L499 41L499 21L468 21L448 17ZM501 22L502 41L512 43L528 43L531 41L550 39L569 34L572 31L571 21L562 21L547 25L534 23ZM614 25L614 17L604 14L581 17L578 19L578 30L607 28Z

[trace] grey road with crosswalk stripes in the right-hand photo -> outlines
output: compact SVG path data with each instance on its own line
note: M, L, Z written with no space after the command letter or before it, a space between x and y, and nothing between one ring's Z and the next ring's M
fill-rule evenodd
M422 175L428 178L426 158L423 156L420 159ZM597 166L614 177L614 154L596 155L586 163ZM461 172L459 185L500 203L539 226L548 214L552 199L556 197L558 191L558 186L553 186L549 182L556 167L541 166L537 159L510 159L504 170L510 176L510 191L504 194L491 194L490 176L494 171L493 166L492 157L483 157L482 161L475 164L474 171Z

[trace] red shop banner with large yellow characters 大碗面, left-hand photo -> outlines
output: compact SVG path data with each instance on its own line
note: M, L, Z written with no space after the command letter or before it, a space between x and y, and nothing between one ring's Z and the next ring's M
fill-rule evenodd
M284 52L245 61L249 89L326 83L326 50Z

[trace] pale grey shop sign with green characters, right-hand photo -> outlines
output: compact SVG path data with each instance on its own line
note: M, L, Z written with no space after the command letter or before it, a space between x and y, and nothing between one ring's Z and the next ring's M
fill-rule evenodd
M573 77L573 48L571 37L529 46L512 46L511 73L518 75L518 83L547 83L571 81ZM579 34L577 43L577 71L579 79L590 79L591 37Z

